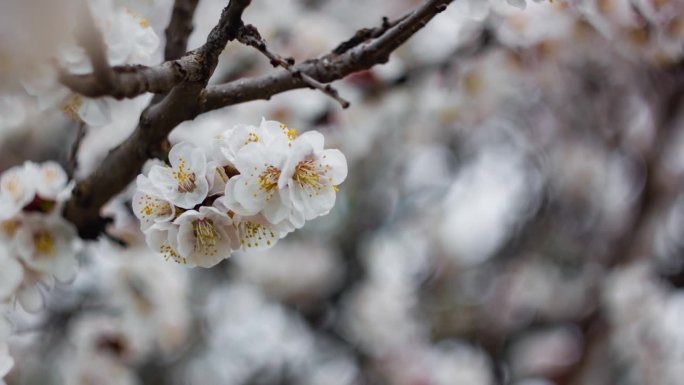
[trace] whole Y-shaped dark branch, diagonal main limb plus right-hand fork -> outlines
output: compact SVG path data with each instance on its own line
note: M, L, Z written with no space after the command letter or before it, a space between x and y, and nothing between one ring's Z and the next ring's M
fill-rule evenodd
M250 3L249 0L231 0L223 10L219 23L209 34L206 44L176 61L191 61L193 76L188 76L185 66L180 66L180 69L176 67L184 75L178 81L180 84L173 87L160 103L148 107L133 134L113 149L95 172L76 186L72 199L65 206L64 216L76 225L81 237L96 238L106 225L106 220L99 215L102 205L135 179L145 161L159 151L166 136L178 124L212 109L254 99L267 99L280 92L308 87L304 77L297 76L296 73L321 83L329 83L352 72L384 63L392 51L451 2L453 0L427 0L370 43L353 47L341 55L331 53L303 62L294 66L294 73L283 70L274 75L239 80L207 89L207 81L216 68L219 54L228 41L238 37L244 25L242 12ZM162 66L174 67L173 63L167 62Z

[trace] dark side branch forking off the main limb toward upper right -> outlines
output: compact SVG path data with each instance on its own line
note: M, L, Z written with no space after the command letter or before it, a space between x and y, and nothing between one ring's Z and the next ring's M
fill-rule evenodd
M292 69L321 82L329 83L345 76L387 62L389 55L421 29L435 15L442 12L453 0L428 0L410 15L375 40L349 49L338 55L333 53L302 62ZM240 79L207 88L203 111L243 103L250 100L270 99L281 92L306 88L301 76L283 70L271 75Z

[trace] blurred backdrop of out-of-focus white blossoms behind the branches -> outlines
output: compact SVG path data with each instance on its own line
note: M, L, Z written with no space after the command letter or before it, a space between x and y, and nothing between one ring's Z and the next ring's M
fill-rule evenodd
M118 3L161 37L160 62L172 1ZM200 1L189 48L225 3ZM252 3L245 22L300 62L421 1ZM684 2L511 3L455 1L387 64L335 83L349 109L300 90L180 125L171 143L207 148L262 117L316 129L349 177L330 215L212 269L149 251L123 192L105 213L126 245L86 245L73 283L11 315L6 382L680 384ZM0 5L0 169L66 164L78 124L17 69L49 57L73 14L46 33L15 5ZM270 71L232 43L212 82ZM111 104L77 177L149 100Z

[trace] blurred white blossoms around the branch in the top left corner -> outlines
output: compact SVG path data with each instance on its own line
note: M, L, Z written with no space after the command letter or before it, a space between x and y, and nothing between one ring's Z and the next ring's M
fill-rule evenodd
M98 29L106 44L110 66L148 64L159 47L159 37L146 19L128 8L106 1L91 2ZM58 50L59 68L72 75L93 72L92 64L83 47L72 42ZM111 97L87 98L71 92L58 81L57 68L39 65L23 80L26 92L38 100L42 110L59 108L70 119L90 126L103 126L111 122L110 106L116 103Z

